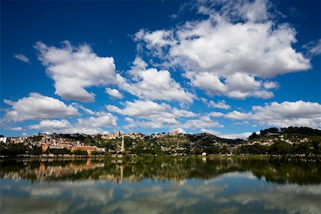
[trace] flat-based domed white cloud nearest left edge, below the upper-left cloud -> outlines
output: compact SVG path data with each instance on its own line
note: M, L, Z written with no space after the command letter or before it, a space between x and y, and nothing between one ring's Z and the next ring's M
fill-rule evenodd
M56 98L42 96L39 93L30 93L28 97L16 102L4 100L4 103L12 106L5 113L5 118L9 121L66 118L79 115L77 108L67 106Z

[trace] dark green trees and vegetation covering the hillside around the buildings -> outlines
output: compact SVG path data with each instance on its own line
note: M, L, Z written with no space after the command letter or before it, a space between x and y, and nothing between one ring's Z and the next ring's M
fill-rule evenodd
M118 151L120 139L105 140L101 135L89 136L83 134L54 134L52 138L64 138L68 141L80 141L88 146L106 148L106 151ZM33 136L26 143L0 144L1 156L39 156L43 151L40 147L31 146L31 143L41 141L42 136ZM126 153L138 156L153 155L208 155L230 153L229 146L239 146L236 154L268 154L268 155L321 155L321 131L307 127L267 128L260 133L253 133L248 141L242 139L225 139L213 136L209 133L185 134L179 136L163 135L161 137L145 136L144 138L124 138ZM272 142L272 146L264 146L262 142ZM251 145L247 145L251 144ZM242 146L243 145L243 146ZM49 148L44 154L54 155L87 155L83 151L71 153L66 148ZM118 151L119 153L119 151ZM93 152L93 155L103 155L101 152ZM106 153L111 156L111 153Z

